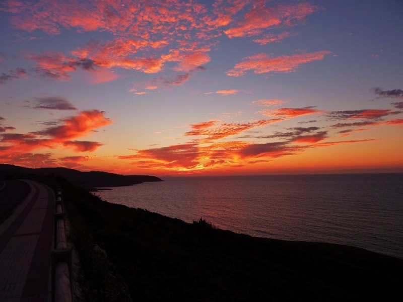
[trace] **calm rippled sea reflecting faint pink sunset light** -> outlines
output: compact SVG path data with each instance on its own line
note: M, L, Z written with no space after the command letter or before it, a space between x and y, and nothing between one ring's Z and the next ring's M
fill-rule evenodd
M403 258L403 174L172 177L103 200L257 237L338 243Z

